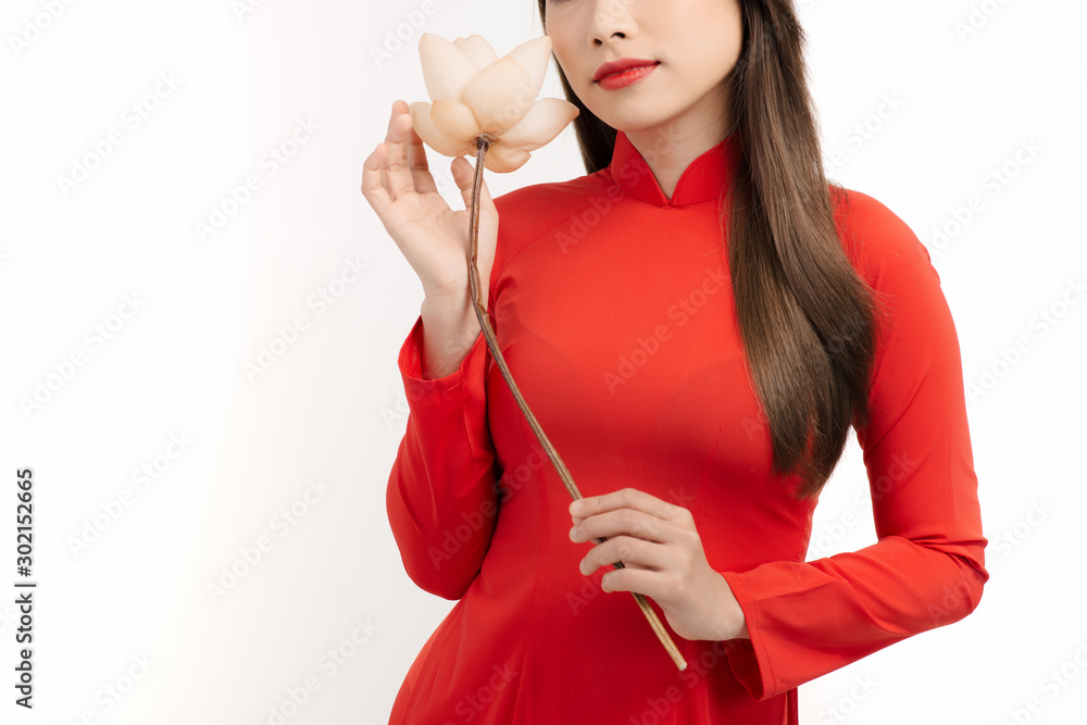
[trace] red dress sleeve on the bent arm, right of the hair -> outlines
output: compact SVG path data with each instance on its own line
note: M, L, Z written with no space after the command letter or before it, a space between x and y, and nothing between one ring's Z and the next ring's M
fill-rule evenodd
M965 617L989 578L959 339L939 275L902 220L849 196L860 242L850 254L887 313L870 421L857 428L878 542L722 572L750 633L727 641L729 665L757 700Z

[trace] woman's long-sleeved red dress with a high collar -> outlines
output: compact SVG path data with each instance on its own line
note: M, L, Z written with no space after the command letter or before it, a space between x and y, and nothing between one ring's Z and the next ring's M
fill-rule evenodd
M596 174L496 199L489 311L499 349L583 496L634 487L690 509L750 639L669 658L629 592L602 592L570 496L480 334L424 379L422 320L400 350L410 415L389 523L412 580L458 600L390 723L797 723L797 686L977 607L982 535L959 341L924 246L875 199L838 223L886 295L872 418L857 430L879 540L804 561L817 501L771 474L719 199L735 137L666 198L624 134Z

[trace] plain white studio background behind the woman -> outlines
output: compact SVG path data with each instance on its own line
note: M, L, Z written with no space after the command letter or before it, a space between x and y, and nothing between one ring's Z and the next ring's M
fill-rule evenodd
M285 722L387 721L453 602L407 577L386 518L407 411L397 353L422 287L359 192L362 162L393 100L427 100L422 32L479 34L499 54L542 34L534 0L436 4L4 3L0 721L270 723L310 676L320 689ZM969 421L992 577L962 622L803 685L801 723L1079 722L1087 11L798 4L827 174L929 248L965 383L979 387ZM402 47L375 60L397 33ZM562 97L553 63L541 96ZM1024 142L1038 150L1016 160ZM429 158L463 208L450 159ZM79 165L86 177L65 187ZM1008 183L994 187L1000 168ZM498 196L582 174L571 125L487 183ZM260 188L227 203L249 175ZM975 196L980 211L954 227ZM201 238L224 205L225 224ZM324 309L311 305L322 289L339 292ZM1044 311L1057 324L1042 326ZM304 329L280 333L299 315ZM282 335L291 343L250 375ZM24 467L36 482L33 712L12 704ZM277 525L308 488L304 514ZM875 540L859 490L852 441L809 558ZM261 537L271 548L247 565L239 551ZM232 565L248 570L233 583ZM337 648L349 657L322 666ZM1062 666L1070 679L1053 687Z

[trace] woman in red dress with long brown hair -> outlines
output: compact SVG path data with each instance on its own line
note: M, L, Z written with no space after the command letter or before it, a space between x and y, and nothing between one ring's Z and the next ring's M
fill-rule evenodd
M988 579L939 277L889 209L824 177L789 0L539 10L587 174L484 185L478 262L585 499L493 365L467 212L397 101L363 193L425 299L387 507L411 578L459 601L389 722L795 724L800 684L961 620ZM619 59L641 67L600 83ZM467 205L472 165L451 168ZM804 561L851 426L879 540Z

